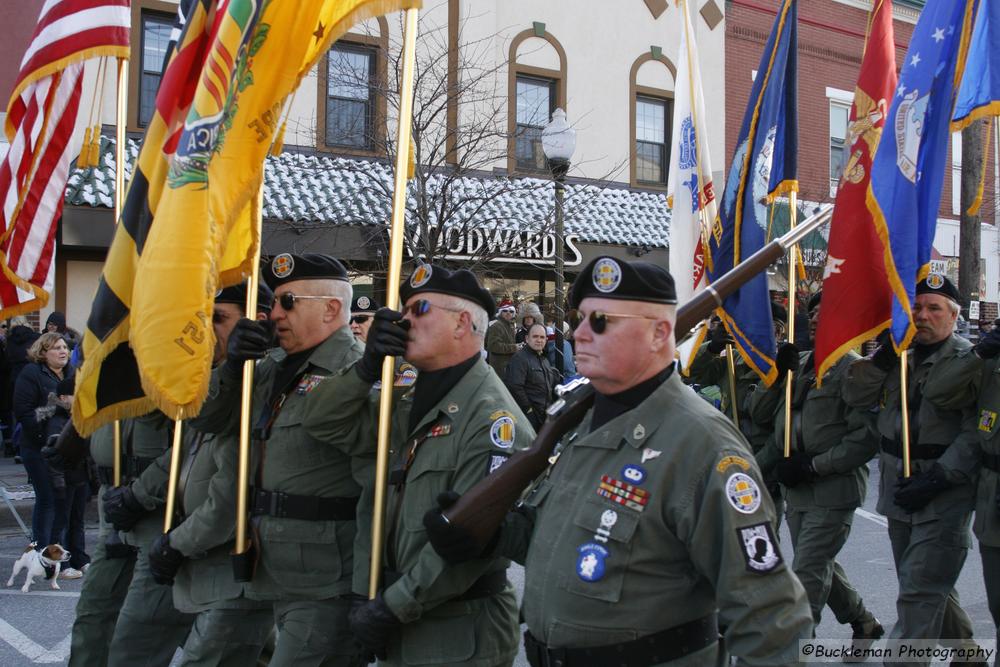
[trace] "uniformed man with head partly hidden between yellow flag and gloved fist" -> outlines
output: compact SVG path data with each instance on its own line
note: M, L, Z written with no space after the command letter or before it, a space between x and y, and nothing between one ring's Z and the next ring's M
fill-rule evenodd
M227 287L215 297L212 327L214 365L226 358L229 334L245 316L246 284ZM274 295L263 282L257 293L257 318L267 319ZM174 606L197 614L184 644L182 665L252 665L272 627L271 606L245 595L233 580L230 552L236 516L239 447L234 432L213 436L188 430L177 485L183 513L169 534L149 549L149 567L160 584L173 585ZM160 457L169 466L170 453Z

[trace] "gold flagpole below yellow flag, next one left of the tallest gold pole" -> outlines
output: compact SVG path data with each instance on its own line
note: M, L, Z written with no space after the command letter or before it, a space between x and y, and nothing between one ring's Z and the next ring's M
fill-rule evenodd
M253 211L253 224L257 227L257 249L253 255L253 266L247 278L246 316L257 317L257 284L260 282L260 244L261 227L264 217L264 176L261 174L260 190L257 192L257 204ZM250 486L250 411L253 409L253 371L254 362L248 359L243 362L243 393L240 395L240 453L236 471L236 545L233 548L234 572L238 573L237 581L249 581L246 569L240 569L238 563L250 549L247 539L247 490Z

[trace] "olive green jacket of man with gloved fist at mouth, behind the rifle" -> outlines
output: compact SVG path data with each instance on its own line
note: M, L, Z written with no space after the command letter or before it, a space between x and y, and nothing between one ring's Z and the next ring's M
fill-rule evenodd
M322 410L316 400L305 425L323 437L339 439L360 429L374 443L377 394L347 371L317 388L316 399L339 397L342 414ZM436 506L439 493L464 493L534 439L528 419L500 378L482 359L409 429L413 392L396 401L392 415L390 472L401 471L412 452L405 485L391 485L386 496L383 564L396 580L383 598L404 623L400 652L408 664L495 665L517 652L517 616L513 589L489 598L455 602L484 574L506 570L502 558L448 565L427 541L423 516ZM350 408L344 410L344 406ZM395 473L401 474L400 472ZM374 485L365 489L359 514L372 511ZM355 592L367 594L370 540L358 536ZM391 658L393 656L390 656Z

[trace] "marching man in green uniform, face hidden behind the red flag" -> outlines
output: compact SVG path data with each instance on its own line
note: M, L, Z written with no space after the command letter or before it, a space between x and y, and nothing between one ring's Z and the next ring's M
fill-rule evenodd
M809 337L815 338L822 293L809 300ZM752 400L751 417L771 419L774 438L759 452L761 467L774 467L784 487L785 516L795 557L792 570L809 596L813 623L819 625L823 607L833 610L837 621L849 623L854 639L878 639L882 625L865 608L851 586L837 554L847 542L854 510L861 506L868 488L868 461L878 452L868 410L852 408L842 392L847 369L859 357L851 352L840 359L817 386L812 352L798 352L791 343L778 348L778 378L761 388ZM793 371L792 455L783 458L785 440L785 378Z

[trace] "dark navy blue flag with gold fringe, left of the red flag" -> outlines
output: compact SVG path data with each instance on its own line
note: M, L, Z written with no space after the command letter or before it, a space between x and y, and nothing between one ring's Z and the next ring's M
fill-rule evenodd
M719 217L712 227L710 281L764 246L767 204L779 194L798 190L796 43L795 0L784 0L750 89ZM760 273L745 283L725 300L721 311L743 359L770 385L777 371L767 275Z

